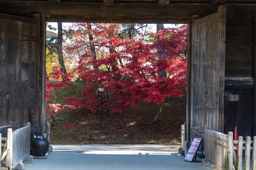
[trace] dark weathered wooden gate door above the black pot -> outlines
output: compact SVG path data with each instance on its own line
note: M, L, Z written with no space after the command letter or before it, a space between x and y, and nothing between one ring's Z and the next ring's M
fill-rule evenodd
M40 16L33 17L0 14L0 126L38 126Z

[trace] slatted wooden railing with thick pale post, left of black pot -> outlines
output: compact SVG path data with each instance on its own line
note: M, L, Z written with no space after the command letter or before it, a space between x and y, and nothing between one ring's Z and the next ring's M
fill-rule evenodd
M30 123L27 126L14 130L8 129L6 166L12 169L30 154Z

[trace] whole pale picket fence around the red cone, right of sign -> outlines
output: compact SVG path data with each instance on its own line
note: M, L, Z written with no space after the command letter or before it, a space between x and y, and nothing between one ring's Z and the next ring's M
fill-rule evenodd
M233 142L238 146L234 146ZM238 157L236 157L234 149L238 149ZM256 137L253 137L253 141L251 141L251 137L246 137L246 141L243 141L243 137L239 137L238 141L233 141L233 132L228 132L228 135L225 135L205 129L205 160L217 168L232 170L234 165L236 170L242 170L243 149L245 149L244 170L250 170L251 149L253 150L252 170L256 170Z

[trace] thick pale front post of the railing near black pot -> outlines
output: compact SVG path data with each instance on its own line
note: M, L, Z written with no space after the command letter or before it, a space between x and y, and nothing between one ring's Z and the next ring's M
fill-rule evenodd
M8 128L6 149L7 149L6 166L12 169L12 129L11 128Z

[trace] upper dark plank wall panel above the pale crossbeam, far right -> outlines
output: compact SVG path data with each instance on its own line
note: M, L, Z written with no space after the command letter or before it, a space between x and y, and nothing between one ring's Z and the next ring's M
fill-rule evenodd
M252 18L227 18L225 77L252 77Z

